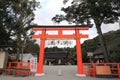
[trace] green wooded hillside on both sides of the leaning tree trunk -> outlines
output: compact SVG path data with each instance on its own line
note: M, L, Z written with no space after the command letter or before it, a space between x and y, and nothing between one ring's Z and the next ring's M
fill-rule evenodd
M120 62L120 30L105 33L104 38L109 51L109 61ZM97 36L93 39L86 40L82 44L83 61L88 61L87 52L94 52L100 48L98 39Z

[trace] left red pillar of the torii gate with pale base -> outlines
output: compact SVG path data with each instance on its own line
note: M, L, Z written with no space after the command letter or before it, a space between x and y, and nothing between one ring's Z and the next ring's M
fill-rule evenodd
M37 67L37 72L35 74L35 76L42 76L44 75L43 73L43 63L44 63L44 47L45 47L45 36L46 34L46 30L43 29L42 30L42 38L41 38L41 41L40 41L40 52L39 52L39 60L38 60L38 67Z

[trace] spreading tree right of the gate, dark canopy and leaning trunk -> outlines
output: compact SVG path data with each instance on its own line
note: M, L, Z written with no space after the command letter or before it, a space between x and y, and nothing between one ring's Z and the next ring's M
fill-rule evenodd
M108 51L101 31L102 23L114 23L120 16L120 0L74 0L71 6L62 8L65 15L56 15L53 21L63 20L75 24L91 24L93 20L99 35L105 61L108 61Z

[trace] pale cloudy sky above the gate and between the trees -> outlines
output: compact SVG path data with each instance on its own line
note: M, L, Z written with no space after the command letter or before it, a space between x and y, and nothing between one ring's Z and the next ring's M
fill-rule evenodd
M70 5L72 0L69 0L66 5L63 4L63 0L37 0L40 1L41 8L38 8L35 13L35 20L34 23L38 25L56 25L53 21L51 21L52 17L54 17L56 14L64 14L64 12L61 11L62 7L67 7ZM61 22L57 25L68 25L67 22ZM117 30L119 29L119 24L102 24L101 29L103 33L106 33L111 30ZM88 39L92 39L96 37L97 31L95 28L95 25L93 25L92 28L90 28L87 33L89 34ZM84 42L86 39L82 39L82 42Z

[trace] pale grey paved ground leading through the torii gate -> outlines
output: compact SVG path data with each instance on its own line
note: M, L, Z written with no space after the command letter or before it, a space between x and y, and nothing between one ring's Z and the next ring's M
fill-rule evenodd
M76 66L44 66L44 76L15 77L13 75L0 75L0 80L120 80L119 78L78 77ZM60 74L61 75L58 75Z

